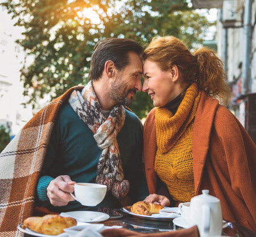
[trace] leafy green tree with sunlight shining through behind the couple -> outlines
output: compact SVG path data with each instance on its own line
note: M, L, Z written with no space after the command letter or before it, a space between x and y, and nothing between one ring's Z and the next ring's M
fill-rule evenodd
M34 62L21 70L24 95L32 104L87 83L90 56L105 37L127 37L145 43L155 35L174 35L192 47L202 41L210 23L186 0L6 0L2 3L23 26L18 43ZM136 95L131 109L145 117L149 96Z

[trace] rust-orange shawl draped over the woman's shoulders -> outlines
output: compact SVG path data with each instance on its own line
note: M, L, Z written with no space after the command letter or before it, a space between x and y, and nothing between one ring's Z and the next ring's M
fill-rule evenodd
M149 193L157 191L155 109L144 124L144 161ZM196 195L217 196L223 219L256 232L256 146L236 117L201 93L193 127Z

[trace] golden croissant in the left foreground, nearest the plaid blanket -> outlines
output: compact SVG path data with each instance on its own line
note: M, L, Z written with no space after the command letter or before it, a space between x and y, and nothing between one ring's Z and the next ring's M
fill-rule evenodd
M63 229L77 225L77 221L71 217L61 217L48 214L43 217L29 217L24 221L24 227L45 235L59 235Z

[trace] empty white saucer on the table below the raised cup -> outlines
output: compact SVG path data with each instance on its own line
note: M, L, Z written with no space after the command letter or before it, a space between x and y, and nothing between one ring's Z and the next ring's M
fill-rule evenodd
M86 223L98 223L109 219L109 215L106 213L92 211L61 212L60 216L73 217L79 222Z

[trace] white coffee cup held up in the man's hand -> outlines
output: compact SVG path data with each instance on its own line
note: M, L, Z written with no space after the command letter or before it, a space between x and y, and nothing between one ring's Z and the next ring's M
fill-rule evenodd
M106 185L76 183L74 184L74 194L70 193L70 195L82 205L94 207L102 202L106 193Z

